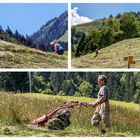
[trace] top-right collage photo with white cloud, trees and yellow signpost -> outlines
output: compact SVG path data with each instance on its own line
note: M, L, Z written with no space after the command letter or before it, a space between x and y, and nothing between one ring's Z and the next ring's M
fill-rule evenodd
M140 68L139 3L72 3L72 68Z

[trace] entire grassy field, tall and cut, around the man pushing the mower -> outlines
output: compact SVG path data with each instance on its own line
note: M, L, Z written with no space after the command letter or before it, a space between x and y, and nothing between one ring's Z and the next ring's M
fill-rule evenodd
M140 105L110 101L111 130L101 135L91 126L94 108L82 106L70 109L71 125L65 130L48 130L31 125L31 121L47 114L64 101L86 101L85 97L44 94L0 93L0 136L140 136Z

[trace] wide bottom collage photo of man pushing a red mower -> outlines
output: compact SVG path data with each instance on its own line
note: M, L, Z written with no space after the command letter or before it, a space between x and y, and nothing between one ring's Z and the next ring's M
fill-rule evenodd
M139 137L139 79L140 72L0 72L0 136Z

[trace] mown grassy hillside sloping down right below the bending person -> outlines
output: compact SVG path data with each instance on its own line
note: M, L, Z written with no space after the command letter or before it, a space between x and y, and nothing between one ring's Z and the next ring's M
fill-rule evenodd
M0 40L0 68L67 68L67 56Z

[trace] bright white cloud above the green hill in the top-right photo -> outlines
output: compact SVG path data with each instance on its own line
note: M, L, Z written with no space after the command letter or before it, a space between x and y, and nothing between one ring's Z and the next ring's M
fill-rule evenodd
M83 17L80 16L77 13L78 7L74 7L74 9L71 9L71 25L77 25L77 24L82 24L82 23L86 23L86 22L91 22L92 19L89 19L88 17Z

